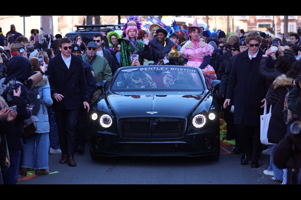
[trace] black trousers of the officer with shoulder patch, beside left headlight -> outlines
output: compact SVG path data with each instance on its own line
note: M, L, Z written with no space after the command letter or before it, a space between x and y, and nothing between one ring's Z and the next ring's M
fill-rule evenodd
M85 142L87 138L87 109L82 105L78 110L77 115L77 133L76 133L76 144L75 146L85 147Z

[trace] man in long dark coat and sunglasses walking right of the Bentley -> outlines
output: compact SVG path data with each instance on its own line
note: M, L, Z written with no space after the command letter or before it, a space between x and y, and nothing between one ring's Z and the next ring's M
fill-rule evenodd
M234 105L234 123L241 139L241 164L249 160L251 168L258 168L261 155L260 115L263 114L263 99L267 93L266 81L259 74L259 65L264 52L261 51L261 37L257 32L250 32L246 37L249 48L236 55L230 73L224 108ZM273 67L272 58L267 59L267 66Z

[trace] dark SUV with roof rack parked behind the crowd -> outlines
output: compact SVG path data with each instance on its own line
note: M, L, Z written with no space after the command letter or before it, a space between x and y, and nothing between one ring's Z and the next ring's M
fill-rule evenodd
M112 31L118 32L120 35L122 35L123 31L121 28L123 25L121 24L107 24L107 25L77 25L77 30L68 32L65 36L71 37L75 35L81 35L84 37L90 37L93 39L93 35L95 33L100 33L101 31L106 32L106 30L111 29Z

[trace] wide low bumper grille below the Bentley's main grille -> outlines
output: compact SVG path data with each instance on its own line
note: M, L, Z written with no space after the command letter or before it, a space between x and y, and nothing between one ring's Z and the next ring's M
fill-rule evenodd
M116 153L189 153L198 150L188 144L116 144L107 151Z

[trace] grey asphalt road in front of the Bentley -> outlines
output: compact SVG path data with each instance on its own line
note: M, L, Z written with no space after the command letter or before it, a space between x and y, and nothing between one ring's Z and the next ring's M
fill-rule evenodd
M76 167L60 164L61 154L49 154L50 173L58 173L17 184L280 184L263 174L269 156L262 155L260 167L255 169L250 167L251 161L241 165L240 157L241 154L224 154L219 161L189 157L116 157L93 161L86 145L83 154L75 155Z

